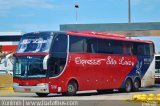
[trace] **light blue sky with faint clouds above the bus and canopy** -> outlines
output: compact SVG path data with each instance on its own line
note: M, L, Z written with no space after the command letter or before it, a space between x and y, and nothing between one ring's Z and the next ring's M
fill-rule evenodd
M0 0L0 31L57 31L60 24L127 23L128 0ZM160 0L131 0L132 22L159 22Z

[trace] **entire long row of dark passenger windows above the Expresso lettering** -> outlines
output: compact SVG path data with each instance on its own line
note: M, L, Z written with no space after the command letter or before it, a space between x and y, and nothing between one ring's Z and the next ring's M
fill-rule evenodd
M153 44L70 36L70 52L118 55L153 55Z

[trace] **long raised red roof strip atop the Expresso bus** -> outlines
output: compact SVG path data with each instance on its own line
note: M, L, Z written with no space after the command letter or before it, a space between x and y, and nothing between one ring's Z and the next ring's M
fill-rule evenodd
M103 38L103 39L115 39L115 40L140 42L140 43L153 43L150 40L131 39L129 37L126 37L125 35L112 34L112 33L101 33L101 32L94 32L94 31L67 31L66 33L68 35L96 37L96 38Z

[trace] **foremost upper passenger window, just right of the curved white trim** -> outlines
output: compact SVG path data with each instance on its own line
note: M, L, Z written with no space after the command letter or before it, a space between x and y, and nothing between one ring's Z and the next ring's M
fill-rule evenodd
M84 37L70 36L70 52L84 52Z

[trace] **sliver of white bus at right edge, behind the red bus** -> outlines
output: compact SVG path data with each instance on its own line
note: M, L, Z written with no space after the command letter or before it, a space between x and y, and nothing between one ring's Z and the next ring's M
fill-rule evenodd
M155 55L155 83L160 83L160 55Z

